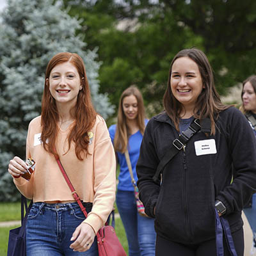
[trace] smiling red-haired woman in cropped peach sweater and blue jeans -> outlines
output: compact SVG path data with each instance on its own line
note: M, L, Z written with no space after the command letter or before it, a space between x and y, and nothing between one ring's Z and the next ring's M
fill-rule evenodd
M60 157L88 217L84 220L56 163ZM83 60L70 52L56 54L45 73L42 115L28 128L28 166L15 156L8 172L22 195L33 199L28 216L27 255L98 255L95 234L115 201L115 152L104 119L92 106Z

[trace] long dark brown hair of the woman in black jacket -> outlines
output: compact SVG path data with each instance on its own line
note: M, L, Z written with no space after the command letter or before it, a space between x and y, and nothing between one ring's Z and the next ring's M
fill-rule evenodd
M220 111L224 109L229 108L229 106L221 103L220 96L216 91L214 85L214 77L209 60L205 56L204 52L200 51L199 49L184 49L174 56L170 65L167 88L163 98L164 110L166 111L167 115L173 120L176 129L179 131L179 115L183 106L173 96L170 81L172 76L173 63L175 60L181 57L188 57L191 60L195 61L202 77L202 83L204 86L196 101L193 116L195 116L195 118L199 118L200 120L209 117L211 119L211 134L215 134L214 118L217 118L218 113L220 113Z

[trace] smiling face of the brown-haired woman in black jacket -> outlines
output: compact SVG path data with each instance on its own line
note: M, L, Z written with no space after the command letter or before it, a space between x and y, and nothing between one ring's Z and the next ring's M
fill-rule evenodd
M185 108L194 109L196 100L204 86L195 61L189 57L180 57L173 62L170 86L175 99Z

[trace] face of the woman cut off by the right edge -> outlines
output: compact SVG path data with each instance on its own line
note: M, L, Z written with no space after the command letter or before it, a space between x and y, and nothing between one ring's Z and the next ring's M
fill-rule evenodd
M242 99L244 109L256 114L256 93L250 82L244 84Z

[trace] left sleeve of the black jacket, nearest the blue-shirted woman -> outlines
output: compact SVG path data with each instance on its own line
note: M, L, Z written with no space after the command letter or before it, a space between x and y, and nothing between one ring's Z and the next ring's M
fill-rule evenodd
M159 195L160 182L154 182L153 177L159 159L153 140L152 120L150 120L145 128L143 140L140 147L140 157L136 165L138 175L138 188L140 191L140 200L143 202L145 212L148 216L154 218L154 207Z

